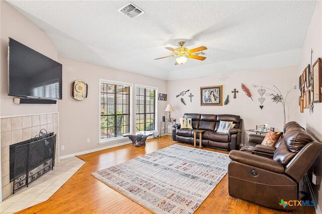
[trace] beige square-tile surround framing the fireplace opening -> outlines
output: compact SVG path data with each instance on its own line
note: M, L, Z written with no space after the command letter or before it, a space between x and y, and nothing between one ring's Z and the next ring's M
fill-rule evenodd
M28 116L10 116L1 118L1 164L3 200L10 196L13 191L13 182L10 182L9 175L10 145L34 138L39 134L41 129L45 129L47 130L47 132L55 132L57 134L55 163L57 163L59 157L58 120L58 113Z

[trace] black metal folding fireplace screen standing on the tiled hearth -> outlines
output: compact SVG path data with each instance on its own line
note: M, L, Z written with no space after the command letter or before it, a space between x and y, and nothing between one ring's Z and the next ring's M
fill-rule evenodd
M53 169L56 134L41 130L35 138L10 146L10 181L13 192Z

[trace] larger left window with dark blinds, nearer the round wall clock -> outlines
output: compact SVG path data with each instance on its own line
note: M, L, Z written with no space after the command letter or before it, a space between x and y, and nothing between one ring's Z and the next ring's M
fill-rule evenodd
M101 80L101 142L110 141L131 130L131 85Z

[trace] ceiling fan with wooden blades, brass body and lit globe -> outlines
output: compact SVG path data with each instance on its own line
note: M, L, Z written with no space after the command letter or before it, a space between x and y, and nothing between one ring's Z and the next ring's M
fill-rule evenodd
M160 58L156 58L156 59L164 59L164 58L168 58L168 57L178 56L178 58L176 59L175 65L186 63L188 58L198 59L198 60L205 60L206 59L206 57L204 57L204 56L198 56L198 55L192 54L192 53L200 52L203 50L207 50L207 48L205 46L201 46L198 48L188 50L188 48L183 47L185 45L185 42L180 41L180 42L178 42L178 44L180 47L177 49L166 47L166 49L175 52L175 55L164 56L164 57L160 57Z

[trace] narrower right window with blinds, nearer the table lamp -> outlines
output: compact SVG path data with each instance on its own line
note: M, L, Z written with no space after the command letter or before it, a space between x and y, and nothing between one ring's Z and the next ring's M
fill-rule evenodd
M135 129L136 131L155 130L156 89L136 85L135 89Z

